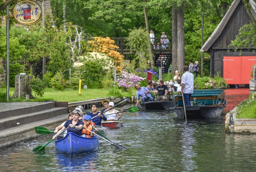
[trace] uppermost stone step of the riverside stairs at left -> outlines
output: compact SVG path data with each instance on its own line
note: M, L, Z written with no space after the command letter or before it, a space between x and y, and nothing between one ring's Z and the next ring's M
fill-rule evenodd
M55 103L55 101L0 103L0 119L51 109L56 106Z

